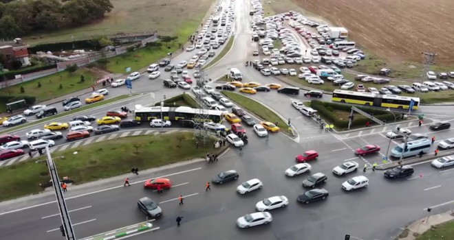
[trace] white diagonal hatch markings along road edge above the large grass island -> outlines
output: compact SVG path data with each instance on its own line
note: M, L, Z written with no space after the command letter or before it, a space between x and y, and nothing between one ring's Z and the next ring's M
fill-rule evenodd
M165 130L166 131L162 132L162 133L172 133L172 132L181 131L181 130L177 130L177 129L171 129L171 130L165 129ZM110 133L110 134L93 136L89 139L83 139L80 141L64 143L62 145L57 145L55 147L52 147L50 149L50 151L51 151L51 153L61 152L61 151L67 150L67 149L72 149L72 148L76 148L76 147L82 147L85 145L89 145L90 143L98 143L100 141L105 141L105 140L110 140L110 139L115 139L115 138L120 138L120 137L125 137L125 136L139 136L139 135L150 135L150 134L157 135L160 133L161 132L158 129L156 129L156 130L145 130L145 129L144 130L131 130L131 131L124 131L124 132L120 131L120 132L114 132L114 133ZM27 149L25 149L25 152L27 152ZM36 160L36 157L38 157L38 156L39 156L38 152L33 152L32 158L30 158L30 156L28 156L28 154L25 154L25 155L19 156L17 158L10 158L8 160L3 160L3 161L0 161L0 167L8 167L8 166L16 164L16 163L21 163L25 160L31 160L31 159Z

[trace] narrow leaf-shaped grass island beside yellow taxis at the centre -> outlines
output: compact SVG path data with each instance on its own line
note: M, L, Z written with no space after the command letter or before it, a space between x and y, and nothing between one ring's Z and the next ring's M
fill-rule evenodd
M226 95L226 97L230 98L232 101L235 101L239 106L244 107L253 115L263 119L263 121L270 121L272 123L277 121L282 132L292 134L292 132L288 130L287 126L285 125L285 120L281 119L281 117L279 117L272 110L259 103L259 101L255 101L254 99L251 99L249 97L245 97L238 93L232 93L229 91L221 91L221 93ZM283 127L283 125L285 125L285 127Z

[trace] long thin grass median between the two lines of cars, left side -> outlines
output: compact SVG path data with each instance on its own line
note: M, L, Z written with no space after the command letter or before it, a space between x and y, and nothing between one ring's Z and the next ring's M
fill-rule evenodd
M103 100L103 101L98 101L97 103L86 105L86 106L83 106L82 108L77 108L77 109L74 109L74 110L71 110L71 111L68 111L68 112L63 112L63 113L61 113L59 115L55 115L55 116L52 116L52 117L45 117L43 119L39 119L39 120L33 121L31 123L25 123L25 124L22 124L22 125L18 125L16 127L12 127L12 128L6 128L6 130L1 130L0 134L5 134L5 133L8 133L8 132L14 132L14 131L22 130L23 128L29 128L29 127L31 127L33 125L38 124L38 123L47 123L47 122L52 121L53 119L58 119L60 117L65 117L67 115L74 115L74 113L76 113L76 112L82 112L82 111L85 111L85 110L89 110L91 108L96 108L96 107L99 107L99 106L102 106L102 105L105 105L105 104L110 104L110 103L112 103L114 101L120 101L122 99L127 99L128 97L129 97L129 95L121 95L121 96L112 97L112 98L109 98L109 99L106 99L106 100Z

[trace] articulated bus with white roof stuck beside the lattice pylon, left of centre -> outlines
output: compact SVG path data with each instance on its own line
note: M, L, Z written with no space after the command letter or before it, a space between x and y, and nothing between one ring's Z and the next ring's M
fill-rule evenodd
M151 119L160 119L162 113L162 118L169 121L186 119L194 121L213 121L215 123L219 123L223 116L221 111L189 108L186 106L171 108L161 106L144 107L141 105L136 105L134 112L136 114L137 121L151 121ZM196 116L202 113L203 115L207 116L206 119L197 119Z

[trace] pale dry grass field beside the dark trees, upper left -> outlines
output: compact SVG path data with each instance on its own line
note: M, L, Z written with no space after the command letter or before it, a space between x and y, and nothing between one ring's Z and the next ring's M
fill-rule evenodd
M39 37L25 38L25 43L56 43L89 39L93 36L114 34L138 34L158 32L164 36L175 36L181 27L201 21L213 0L111 0L114 10L105 19L92 25L67 29ZM193 29L191 29L193 31Z

